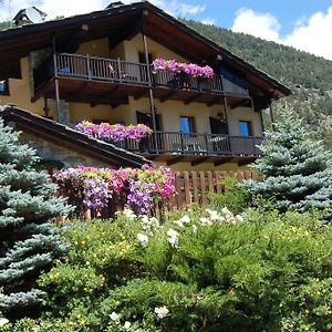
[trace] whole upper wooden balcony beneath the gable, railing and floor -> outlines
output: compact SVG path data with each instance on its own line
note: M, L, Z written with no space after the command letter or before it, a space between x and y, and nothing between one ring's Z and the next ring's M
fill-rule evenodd
M148 80L151 74L151 82ZM154 96L160 102L167 100L205 103L208 106L224 104L227 96L231 105L248 101L248 91L222 89L224 77L214 75L211 80L189 77L169 72L154 72L143 63L105 59L81 54L59 53L34 70L35 95L54 97L54 77L59 81L60 96L69 102L120 105L127 103L128 95L136 100Z

